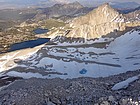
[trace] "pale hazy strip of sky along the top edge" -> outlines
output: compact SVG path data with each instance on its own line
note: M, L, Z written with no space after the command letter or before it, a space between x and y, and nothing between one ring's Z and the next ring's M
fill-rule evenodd
M140 4L140 0L0 0L0 7L4 6L27 6L27 5L38 5L46 3L51 6L56 3L69 3L78 1L84 6L98 6L104 2L136 2Z

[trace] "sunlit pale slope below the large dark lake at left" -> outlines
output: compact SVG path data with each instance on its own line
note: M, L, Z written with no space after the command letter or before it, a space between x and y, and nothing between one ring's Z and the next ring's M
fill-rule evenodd
M44 45L40 45L34 48L17 50L0 55L0 72L16 67L17 64L14 62L16 59L25 60L36 53L43 46Z

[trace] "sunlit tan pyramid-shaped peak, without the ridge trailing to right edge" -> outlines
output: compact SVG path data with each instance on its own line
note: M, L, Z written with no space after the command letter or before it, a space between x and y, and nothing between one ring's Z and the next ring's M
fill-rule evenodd
M80 17L71 24L74 29L68 37L84 37L92 39L113 32L115 29L122 30L120 22L124 22L123 15L104 4L89 14Z

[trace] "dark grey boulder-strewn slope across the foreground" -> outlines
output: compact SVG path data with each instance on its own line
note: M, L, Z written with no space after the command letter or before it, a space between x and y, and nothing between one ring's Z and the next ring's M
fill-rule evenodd
M140 71L107 78L27 79L0 91L1 105L138 105L140 80L127 89L111 87ZM10 79L10 78L9 78Z

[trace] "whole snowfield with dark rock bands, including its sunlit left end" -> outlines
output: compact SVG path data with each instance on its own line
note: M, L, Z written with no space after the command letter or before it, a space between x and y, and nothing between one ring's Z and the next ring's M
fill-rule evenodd
M140 68L140 32L132 30L117 38L99 38L86 44L46 45L31 56L2 56L0 70L23 78L107 77ZM33 51L34 52L34 51ZM7 57L8 56L8 57ZM16 56L16 57L15 57ZM5 68L11 59L22 59ZM24 59L23 59L24 58ZM10 63L8 63L10 64ZM17 68L22 67L22 72ZM24 68L24 69L23 69ZM30 75L31 74L31 75ZM33 75L35 74L35 75Z

